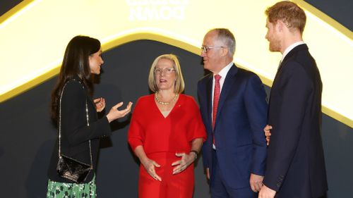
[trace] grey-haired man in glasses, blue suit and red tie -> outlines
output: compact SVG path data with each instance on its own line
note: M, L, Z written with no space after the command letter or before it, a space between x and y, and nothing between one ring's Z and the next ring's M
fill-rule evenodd
M213 198L256 197L265 173L266 94L256 74L235 66L234 51L234 35L227 29L210 30L203 39L201 56L211 73L198 82L198 99Z

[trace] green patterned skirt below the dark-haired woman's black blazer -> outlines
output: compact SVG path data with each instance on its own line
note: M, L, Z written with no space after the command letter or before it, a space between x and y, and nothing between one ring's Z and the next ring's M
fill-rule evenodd
M95 177L83 184L62 183L48 180L47 198L95 198Z

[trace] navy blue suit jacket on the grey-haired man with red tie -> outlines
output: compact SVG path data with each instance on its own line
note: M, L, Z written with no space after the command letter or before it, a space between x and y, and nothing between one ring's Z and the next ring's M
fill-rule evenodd
M203 164L212 173L212 89L213 74L198 82L201 116L208 138L203 144ZM264 175L266 143L263 128L267 103L258 76L233 65L223 84L215 121L217 163L227 185L249 187L250 173ZM212 180L212 175L210 175Z

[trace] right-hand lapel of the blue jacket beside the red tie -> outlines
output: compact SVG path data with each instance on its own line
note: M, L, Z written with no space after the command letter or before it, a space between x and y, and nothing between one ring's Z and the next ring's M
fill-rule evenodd
M220 111L222 110L223 104L225 104L225 99L227 99L227 95L230 92L234 82L236 81L236 74L238 72L237 66L233 64L232 68L229 69L227 76L225 77L225 82L223 83L223 87L220 94L220 101L218 101L217 108L217 117L215 121L215 125L217 126L217 120L220 118ZM212 112L212 111L211 111Z

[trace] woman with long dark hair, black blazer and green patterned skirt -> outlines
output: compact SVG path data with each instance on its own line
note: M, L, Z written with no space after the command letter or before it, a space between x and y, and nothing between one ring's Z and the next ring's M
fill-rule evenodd
M92 99L92 75L99 75L104 61L100 41L76 36L66 47L59 78L52 92L52 118L58 123L60 137L54 145L48 170L47 197L96 197L95 169L100 137L111 135L109 123L131 110L119 111L123 102L98 118L105 107L104 98ZM62 178L56 171L60 153L92 166L83 182Z

